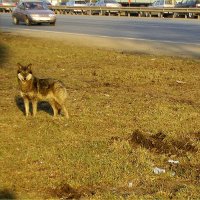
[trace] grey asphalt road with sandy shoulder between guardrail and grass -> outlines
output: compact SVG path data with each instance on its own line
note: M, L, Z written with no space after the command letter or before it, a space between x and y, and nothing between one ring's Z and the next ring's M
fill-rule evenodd
M0 27L14 32L52 35L99 43L102 47L200 58L200 21L160 18L58 15L55 27L14 25L10 14L0 15ZM77 39L78 38L78 39ZM90 39L89 39L90 38ZM94 38L98 38L95 42ZM114 44L114 45L113 45ZM98 46L96 44L96 46Z

